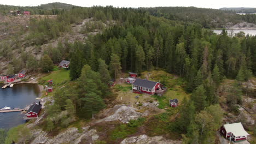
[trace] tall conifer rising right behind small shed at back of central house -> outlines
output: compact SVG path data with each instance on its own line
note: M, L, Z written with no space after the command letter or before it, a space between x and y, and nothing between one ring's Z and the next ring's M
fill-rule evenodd
M141 73L142 67L145 65L145 53L142 46L136 46L136 72Z

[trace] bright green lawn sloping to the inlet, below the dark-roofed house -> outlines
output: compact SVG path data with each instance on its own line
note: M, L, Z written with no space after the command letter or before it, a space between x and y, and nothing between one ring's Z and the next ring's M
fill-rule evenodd
M49 75L42 77L39 82L47 85L47 81L51 79L53 80L54 85L59 85L60 83L70 81L69 70L61 69L52 71Z

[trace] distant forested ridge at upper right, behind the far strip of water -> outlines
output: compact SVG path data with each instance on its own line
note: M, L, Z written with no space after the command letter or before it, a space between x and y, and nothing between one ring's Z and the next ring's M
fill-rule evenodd
M255 15L238 15L235 11L205 9L195 7L156 7L140 8L151 15L165 17L169 20L200 23L204 28L225 28L240 21L255 23Z

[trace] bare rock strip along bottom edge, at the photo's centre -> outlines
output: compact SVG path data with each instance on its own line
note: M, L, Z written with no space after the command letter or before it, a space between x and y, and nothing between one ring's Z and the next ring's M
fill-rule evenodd
M149 137L147 135L133 136L124 139L120 144L181 144L182 141L167 140L162 136Z

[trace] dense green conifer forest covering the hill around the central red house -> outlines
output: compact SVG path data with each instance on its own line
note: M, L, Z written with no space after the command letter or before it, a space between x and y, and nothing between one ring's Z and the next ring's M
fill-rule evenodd
M97 22L87 23L85 32L102 32L74 43L59 41L56 47L44 49L40 61L23 51L59 40L73 33L73 25L92 17ZM56 19L31 19L23 39L26 43L21 46L20 39L13 44L4 41L1 56L11 61L8 71L19 71L15 64L24 62L27 69L45 73L61 59L71 61L72 81L61 87L66 91L56 90L54 103L46 107L46 118L40 126L45 131L67 128L107 107L114 99L108 87L110 77L117 80L122 71L141 74L162 69L181 77L182 88L191 94L182 101L176 119L161 117L168 130L177 131L184 143L215 143L223 118L217 88L225 79L236 80L232 89L236 95L229 96L226 105L229 112L237 111L235 105L242 103L241 83L256 75L256 37L244 33L229 37L225 30L217 35L204 28L224 27L226 22L237 22L237 17L240 19L231 11L193 7L74 7L62 11ZM112 24L103 27L98 22ZM21 56L11 60L14 50ZM129 123L120 129L143 122Z

